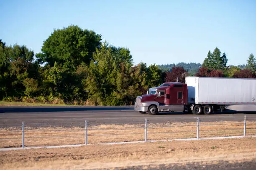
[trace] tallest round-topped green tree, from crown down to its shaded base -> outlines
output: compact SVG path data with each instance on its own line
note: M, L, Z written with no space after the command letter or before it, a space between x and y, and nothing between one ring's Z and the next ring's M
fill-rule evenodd
M59 97L66 102L85 100L81 83L84 77L77 77L81 76L77 69L90 64L93 53L100 47L100 41L101 35L74 25L51 33L43 43L42 52L36 54L38 63L46 62L44 71L57 78L50 80L51 77L43 72L42 82L51 88L49 96Z

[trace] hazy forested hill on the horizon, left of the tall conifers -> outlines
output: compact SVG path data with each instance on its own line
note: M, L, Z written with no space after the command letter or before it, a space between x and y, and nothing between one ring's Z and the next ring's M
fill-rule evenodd
M187 70L189 72L189 75L195 75L195 73L197 72L197 70L201 67L200 63L196 63L196 62L190 62L190 63L186 63L186 62L179 62L177 64L162 64L162 65L158 65L158 67L163 70L163 71L171 71L172 67L183 67L184 70Z

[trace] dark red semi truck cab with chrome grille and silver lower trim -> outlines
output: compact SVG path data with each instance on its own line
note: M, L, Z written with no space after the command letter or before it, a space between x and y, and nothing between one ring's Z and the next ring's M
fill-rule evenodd
M152 87L146 95L138 96L134 110L155 115L157 112L182 112L187 105L187 84L165 82Z

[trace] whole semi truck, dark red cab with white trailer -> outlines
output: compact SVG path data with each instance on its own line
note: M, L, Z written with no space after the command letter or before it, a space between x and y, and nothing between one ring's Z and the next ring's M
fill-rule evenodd
M134 110L149 115L159 112L209 115L229 105L256 105L256 79L185 77L185 83L181 83L177 78L177 82L165 82L136 97Z

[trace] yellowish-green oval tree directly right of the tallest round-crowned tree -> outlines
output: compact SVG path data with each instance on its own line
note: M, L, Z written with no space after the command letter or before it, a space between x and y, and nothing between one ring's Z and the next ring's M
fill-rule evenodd
M96 49L89 66L89 76L86 80L88 96L96 104L107 104L109 96L115 88L116 67L111 47L103 43L100 49ZM113 99L114 101L114 99ZM109 103L108 103L109 104Z

